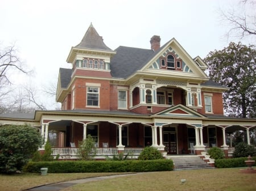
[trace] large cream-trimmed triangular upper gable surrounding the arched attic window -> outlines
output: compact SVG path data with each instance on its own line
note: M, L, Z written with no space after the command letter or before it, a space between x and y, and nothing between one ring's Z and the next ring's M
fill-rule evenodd
M167 63L165 63L165 66L163 67L162 60L167 62L167 56L170 54L175 58L175 61L181 62L180 68L176 67L175 70L167 70ZM196 61L198 62L199 59ZM197 77L208 79L203 69L204 67L200 67L199 64L196 63L195 60L193 60L191 56L189 56L189 54L182 48L182 46L177 43L175 39L172 39L162 46L160 51L142 68L141 71L167 75L172 74L177 76L185 75L186 78Z

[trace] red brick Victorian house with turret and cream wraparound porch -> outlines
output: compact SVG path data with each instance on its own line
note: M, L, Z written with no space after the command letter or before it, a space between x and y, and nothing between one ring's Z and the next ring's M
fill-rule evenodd
M68 54L72 69L59 70L61 111L2 114L0 124L30 123L52 141L54 155L71 157L88 134L98 156L138 155L146 146L168 155L199 155L217 146L228 156L228 134L236 130L247 131L250 144L256 120L224 116L222 92L228 89L207 77L200 57L189 56L176 39L161 46L152 36L148 46L112 50L90 24Z

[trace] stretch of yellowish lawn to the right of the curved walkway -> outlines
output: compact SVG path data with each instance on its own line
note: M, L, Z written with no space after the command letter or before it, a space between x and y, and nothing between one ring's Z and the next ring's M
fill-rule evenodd
M65 191L255 191L256 173L245 174L241 168L197 169L186 171L150 172L140 175L118 177L115 179L77 184L64 189ZM181 179L186 179L181 184ZM63 191L64 191L63 190Z

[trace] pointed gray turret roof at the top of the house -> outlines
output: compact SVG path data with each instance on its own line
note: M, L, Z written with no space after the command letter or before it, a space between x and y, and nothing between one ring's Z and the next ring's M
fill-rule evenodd
M81 43L75 46L76 48L89 48L89 49L100 49L100 50L112 50L103 42L102 36L98 35L98 32L90 23Z

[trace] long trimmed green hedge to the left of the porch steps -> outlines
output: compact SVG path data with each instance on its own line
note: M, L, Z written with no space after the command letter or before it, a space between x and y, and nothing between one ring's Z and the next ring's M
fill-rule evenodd
M172 160L122 160L122 161L55 161L30 162L24 172L39 173L40 168L48 168L48 173L75 172L151 172L172 171Z

